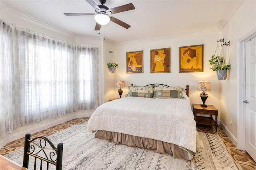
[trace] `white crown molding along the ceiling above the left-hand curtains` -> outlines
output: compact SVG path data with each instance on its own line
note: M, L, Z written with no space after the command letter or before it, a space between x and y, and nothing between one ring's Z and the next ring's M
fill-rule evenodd
M60 28L57 28L55 26L52 26L50 24L47 24L46 22L43 22L41 20L38 20L36 18L32 18L26 14L23 14L21 12L18 12L16 10L12 10L12 9L8 9L8 10L5 10L7 11L6 14L10 15L10 16L14 16L16 18L19 18L21 20L24 20L26 22L29 22L31 24L34 24L34 25L37 25L37 26L40 26L42 28L46 28L48 30L51 30L51 31L54 31L56 33L59 33L59 34L62 34L64 36L71 36L73 38L76 38L76 34L73 34L71 32L68 32L66 30L63 30L63 29L60 29Z

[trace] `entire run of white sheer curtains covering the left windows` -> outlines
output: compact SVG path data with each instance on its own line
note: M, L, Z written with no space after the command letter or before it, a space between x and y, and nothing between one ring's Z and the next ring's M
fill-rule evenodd
M10 26L0 29L0 137L20 126L98 107L98 48L16 29L12 42Z

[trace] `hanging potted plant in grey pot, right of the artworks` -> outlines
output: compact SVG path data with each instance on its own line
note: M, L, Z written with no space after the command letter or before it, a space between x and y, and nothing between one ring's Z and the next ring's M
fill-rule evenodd
M226 63L225 57L212 55L212 58L208 60L212 65L210 69L216 71L219 80L226 80L230 64Z

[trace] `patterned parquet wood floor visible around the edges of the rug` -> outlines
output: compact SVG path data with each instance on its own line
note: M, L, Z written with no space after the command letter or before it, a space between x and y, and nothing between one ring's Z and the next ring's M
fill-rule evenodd
M73 119L71 121L67 121L65 123L61 123L60 125L56 125L54 127L47 128L45 130L32 134L31 136L36 136L36 135L50 136L51 134L54 134L56 132L59 132L60 130L76 125L77 123L80 123L87 119L89 119L89 117ZM197 129L199 132L216 134L215 127L200 126L200 127L197 127ZM221 127L218 128L217 134L220 136L222 142L226 146L226 149L232 156L234 163L236 164L239 170L256 170L256 162L250 157L250 155L246 151L238 150ZM3 148L1 148L0 154L1 155L8 154L10 152L13 152L14 150L22 148L23 146L24 146L24 138L15 140L13 142L6 144Z

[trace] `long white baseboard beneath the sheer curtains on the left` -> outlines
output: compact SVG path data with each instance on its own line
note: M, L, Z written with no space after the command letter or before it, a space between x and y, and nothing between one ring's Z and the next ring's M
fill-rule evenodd
M0 148L4 147L9 142L12 142L14 140L18 140L20 138L23 138L26 133L36 133L40 132L41 130L59 125L61 123L64 123L66 121L70 121L75 118L81 118L81 117L90 117L92 113L94 112L94 109L92 110L86 110L86 111L78 111L74 112L68 115L64 115L62 117L56 117L53 119L48 119L45 121L42 121L40 123L34 124L34 125L28 125L25 127L18 127L16 130L12 132L12 134L8 134L6 137L2 137L0 139Z

